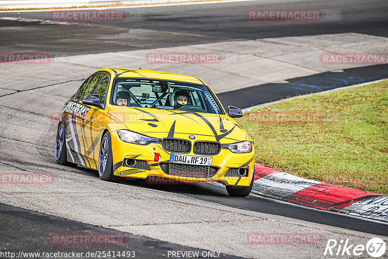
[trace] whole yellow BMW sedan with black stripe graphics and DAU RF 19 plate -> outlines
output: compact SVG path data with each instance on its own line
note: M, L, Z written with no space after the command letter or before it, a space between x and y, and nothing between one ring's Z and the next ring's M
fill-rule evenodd
M250 136L199 78L142 69L100 69L62 110L56 162L99 178L216 181L247 196L254 179Z

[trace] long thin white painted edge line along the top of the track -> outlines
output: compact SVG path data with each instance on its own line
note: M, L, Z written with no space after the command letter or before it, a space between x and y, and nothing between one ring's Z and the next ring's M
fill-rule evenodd
M250 2L260 0L220 0L206 2L185 2L185 3L161 3L161 4L139 4L129 6L107 6L107 7L87 7L87 8L63 8L63 9L42 9L42 10L12 10L0 11L1 13L36 13L36 12L51 12L51 11L72 11L72 10L110 10L110 9L129 9L129 8L147 8L147 7L163 7L163 6L178 6L178 5L194 5L194 4L211 4L211 3L234 3L234 2Z

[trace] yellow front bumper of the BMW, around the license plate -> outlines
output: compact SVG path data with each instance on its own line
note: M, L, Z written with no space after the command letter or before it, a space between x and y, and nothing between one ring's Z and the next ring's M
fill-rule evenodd
M151 143L146 146L125 143L119 139L115 132L112 134L112 153L113 153L113 174L120 177L129 178L148 178L161 177L169 178L180 182L202 182L202 181L217 181L226 185L234 186L249 186L252 175L254 173L255 161L254 150L250 153L233 153L228 149L221 149L220 153L213 157L210 170L216 170L215 174L210 174L210 177L183 177L168 174L168 166L171 152L162 148L161 144ZM155 153L160 154L159 162L155 161ZM185 155L193 155L193 152ZM126 159L134 159L141 161L141 166L128 166L124 161ZM147 166L147 164L149 167ZM167 170L166 170L167 168ZM246 176L228 176L229 168L246 168L248 173Z

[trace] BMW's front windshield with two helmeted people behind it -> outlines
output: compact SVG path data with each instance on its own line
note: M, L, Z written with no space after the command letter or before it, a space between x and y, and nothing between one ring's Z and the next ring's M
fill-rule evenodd
M155 79L116 78L111 104L222 114L205 85Z

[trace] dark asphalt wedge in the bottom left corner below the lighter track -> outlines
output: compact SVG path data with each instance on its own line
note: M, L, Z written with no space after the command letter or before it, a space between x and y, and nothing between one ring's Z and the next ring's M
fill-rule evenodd
M169 251L193 251L191 247L135 236L125 232L110 231L103 227L82 224L9 205L0 204L0 211L2 223L0 229L4 233L1 235L0 241L3 244L11 244L7 249L9 251L18 251L20 248L23 248L24 252L57 252L58 248L50 243L51 234L68 232L69 230L78 231L78 233L121 235L123 236L123 241L125 241L123 246L116 245L117 248L112 249L109 245L103 245L98 247L98 251L115 251L116 253L123 250L134 251L136 258L158 258L168 255ZM8 233L9 229L14 229L12 234ZM17 239L17 242L15 242L15 239ZM42 240L44 242L41 242ZM73 251L86 254L88 251L96 251L96 249L94 245L61 247L61 252L69 253ZM194 251L198 251L200 254L205 252L200 249L195 249ZM220 254L219 256L221 258L238 258L225 254Z

